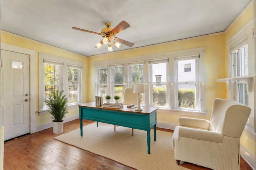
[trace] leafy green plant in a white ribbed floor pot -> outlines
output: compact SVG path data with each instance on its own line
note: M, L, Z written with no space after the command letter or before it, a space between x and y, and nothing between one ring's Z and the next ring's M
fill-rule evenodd
M53 133L63 132L63 117L68 113L68 98L63 95L64 90L52 90L47 99L44 99L49 113L52 115Z

